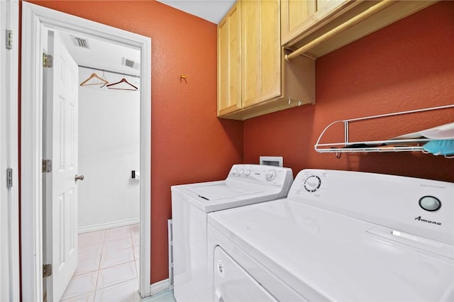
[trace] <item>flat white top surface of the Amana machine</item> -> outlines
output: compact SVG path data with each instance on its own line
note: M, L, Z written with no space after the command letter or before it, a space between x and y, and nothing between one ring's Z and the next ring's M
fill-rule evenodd
M209 223L308 300L308 288L330 301L454 297L453 245L291 199L210 213Z

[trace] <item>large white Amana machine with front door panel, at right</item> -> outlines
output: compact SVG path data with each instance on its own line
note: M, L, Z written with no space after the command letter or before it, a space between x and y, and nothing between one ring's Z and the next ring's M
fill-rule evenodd
M454 184L306 169L209 214L211 301L454 301Z

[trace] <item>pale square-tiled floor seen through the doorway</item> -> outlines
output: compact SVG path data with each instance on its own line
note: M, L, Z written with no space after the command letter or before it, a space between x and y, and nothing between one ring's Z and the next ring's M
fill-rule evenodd
M61 301L140 301L139 225L79 234L79 266Z

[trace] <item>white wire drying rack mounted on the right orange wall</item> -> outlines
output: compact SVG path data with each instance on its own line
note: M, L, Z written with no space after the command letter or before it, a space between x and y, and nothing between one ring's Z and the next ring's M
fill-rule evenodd
M419 151L425 152L426 150L423 149L423 145L426 142L431 140L435 140L433 138L411 138L411 139L403 139L403 140L371 140L371 141L362 141L362 142L350 142L349 139L349 125L353 122L358 121L365 121L371 120L374 118L384 118L388 116L399 116L402 114L407 113L416 113L416 112L423 112L423 111L432 111L432 110L440 110L445 108L454 108L453 105L446 105L446 106L438 106L438 107L431 107L431 108L422 108L416 109L411 111L401 111L396 113L387 113L381 114L378 116L366 116L363 118L352 118L349 120L343 121L334 121L333 123L326 126L326 128L321 132L319 139L317 140L314 148L316 152L320 153L336 153L336 157L340 158L342 153L345 152L408 152L408 151ZM326 130L331 128L331 126L343 123L344 125L344 141L343 142L331 142L331 143L323 143L321 144L321 138L326 133ZM445 156L448 157L448 156ZM450 157L448 157L450 158Z

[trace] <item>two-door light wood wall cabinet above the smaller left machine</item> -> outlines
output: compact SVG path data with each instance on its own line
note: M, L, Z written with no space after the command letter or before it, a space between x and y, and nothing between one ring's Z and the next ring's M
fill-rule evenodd
M314 104L315 62L284 61L279 5L240 0L219 23L218 117L245 120Z

